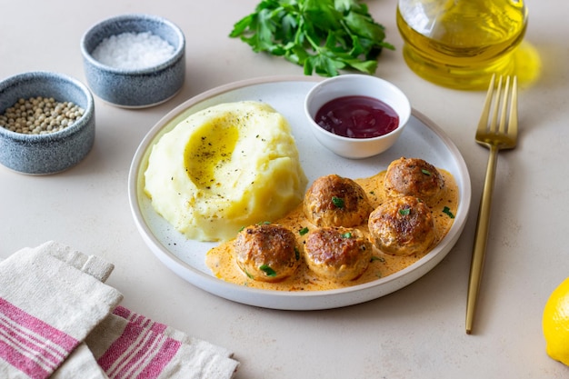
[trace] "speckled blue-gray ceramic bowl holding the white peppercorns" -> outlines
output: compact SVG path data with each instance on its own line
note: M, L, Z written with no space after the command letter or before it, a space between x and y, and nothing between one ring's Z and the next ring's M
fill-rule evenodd
M95 103L89 89L66 75L31 72L0 82L0 115L20 98L54 97L85 110L73 125L45 135L25 135L0 127L0 163L19 173L54 174L79 163L95 141Z

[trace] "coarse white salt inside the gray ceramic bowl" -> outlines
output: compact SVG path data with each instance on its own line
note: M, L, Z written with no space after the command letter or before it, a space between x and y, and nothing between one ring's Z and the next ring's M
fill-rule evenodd
M92 55L103 65L140 69L165 62L174 55L174 46L151 32L122 33L105 38Z

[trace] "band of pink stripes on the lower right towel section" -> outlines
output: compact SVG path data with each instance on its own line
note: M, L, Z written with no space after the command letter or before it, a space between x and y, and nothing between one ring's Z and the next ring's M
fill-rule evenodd
M124 315L122 310L117 314ZM155 378L174 358L180 345L173 338L129 322L97 362L111 379Z

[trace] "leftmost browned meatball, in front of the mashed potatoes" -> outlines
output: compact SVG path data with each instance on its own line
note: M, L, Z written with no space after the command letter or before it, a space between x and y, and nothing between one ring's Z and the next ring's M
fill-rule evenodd
M247 226L237 234L234 245L237 264L255 280L283 280L300 264L294 233L279 224Z

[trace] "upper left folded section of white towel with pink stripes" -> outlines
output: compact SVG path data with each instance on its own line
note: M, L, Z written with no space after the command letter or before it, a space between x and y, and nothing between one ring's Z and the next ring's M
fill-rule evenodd
M2 378L49 377L123 298L95 277L105 274L85 274L45 247L0 262Z

